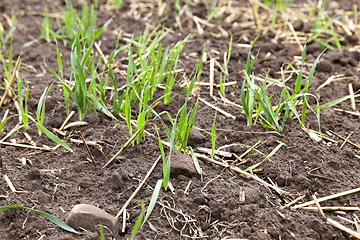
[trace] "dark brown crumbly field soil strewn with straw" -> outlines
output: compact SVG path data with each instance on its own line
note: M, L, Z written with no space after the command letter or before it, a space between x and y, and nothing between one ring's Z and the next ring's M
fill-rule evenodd
M152 1L144 1L150 2ZM154 1L156 2L156 1ZM173 6L174 1L170 6ZM192 1L191 1L192 2ZM195 16L206 19L206 6L202 1L190 5L189 8ZM340 2L340 1L339 1ZM344 10L352 10L352 0L341 1ZM246 1L233 2L235 7L250 8ZM73 5L81 7L81 2L73 1ZM35 117L38 99L44 89L55 81L44 65L43 58L52 69L57 69L56 45L39 40L30 47L22 48L25 43L41 36L41 24L43 16L40 13L49 9L50 12L59 12L58 6L65 6L64 1L21 1L21 0L2 0L0 12L11 16L11 11L23 10L24 15L20 18L17 30L14 32L13 49L14 61L23 52L20 76L24 77L30 86L29 93L29 112ZM101 50L104 54L110 54L115 46L119 29L123 33L140 35L147 25L155 27L159 21L166 17L163 24L172 27L163 44L173 46L177 41L184 39L188 34L195 35L191 42L187 43L181 53L181 68L184 75L178 77L174 91L182 90L184 79L189 79L196 67L197 60L201 56L204 44L207 43L207 51L214 57L219 57L220 64L223 63L224 52L228 50L230 35L233 35L234 45L229 63L229 76L227 81L236 81L235 85L226 88L226 97L236 103L241 104L240 90L244 81L243 74L239 72L245 69L246 58L249 48L242 47L240 44L250 44L257 35L254 26L245 27L240 23L247 21L252 16L239 17L231 24L223 18L212 19L212 28L205 28L204 34L200 35L196 30L196 24L190 19L185 19L182 28L174 25L175 17L173 8L164 12L162 16L157 16L158 5L154 5L154 13L149 16L147 13L150 8L136 9L134 3L124 1L119 10L106 9L105 2L99 1L98 26L104 24L110 17L115 16L104 34L100 37ZM352 17L352 16L351 16ZM52 19L53 21L54 19ZM5 18L1 18L1 23L8 29ZM55 21L53 21L55 26ZM308 24L302 22L293 23L296 31L307 31ZM227 32L219 35L218 26ZM259 58L254 65L253 71L256 76L267 73L269 77L280 79L278 71L285 62L293 62L301 56L296 43L287 43L286 38L276 35L276 31L268 31L261 34L258 38L252 54L255 55L260 49ZM344 34L345 36L345 34ZM349 94L348 84L352 83L354 91L360 89L358 64L360 52L353 50L358 47L359 39L356 35L346 36L342 44L346 47L343 51L327 50L321 57L313 78L310 92L319 100L320 104L325 104ZM124 45L120 41L120 46ZM9 49L9 43L6 46ZM71 49L59 43L60 52L63 59L69 59ZM306 48L305 70L309 71L312 63L324 47L316 42L311 42ZM4 53L4 51L2 51ZM7 51L5 51L7 54ZM6 56L4 54L4 56ZM127 64L121 61L126 57L126 52L120 52L116 60L118 64ZM26 67L28 66L28 67ZM32 67L29 67L32 66ZM295 63L297 69L299 64ZM69 76L68 68L65 68L65 76ZM126 68L122 68L126 70ZM209 81L210 64L205 63L202 82ZM321 90L316 90L322 83L333 75L342 74L349 77L345 80L330 83ZM288 74L286 75L286 77ZM5 77L4 72L0 71L0 77ZM215 69L215 81L219 83L220 71ZM294 75L287 86L294 87L296 76ZM126 83L120 75L117 75L120 85ZM136 239L350 239L350 236L326 223L317 211L291 210L283 206L286 201L292 201L305 195L304 202L311 201L312 195L321 198L335 193L359 188L359 168L360 161L356 156L360 155L359 148L356 148L337 136L328 136L336 141L322 140L315 142L309 135L301 129L297 119L288 119L282 133L269 131L259 124L253 126L246 125L246 116L237 107L232 105L224 106L218 94L217 88L214 97L210 97L209 88L201 87L200 97L216 105L226 112L236 116L232 119L217 113L216 117L216 146L221 147L230 144L254 145L258 141L262 144L257 149L268 155L277 145L277 141L286 144L282 146L272 157L272 161L263 162L253 174L268 183L273 183L286 191L288 196L280 196L270 188L258 182L243 178L236 172L222 166L199 160L202 168L200 176L194 171L192 162L182 159L181 153L177 153L172 161L174 168L170 176L170 181L175 191L170 190L160 192L156 204L148 222L139 230ZM279 98L281 88L272 85L268 88L269 93L274 94L274 101ZM0 90L0 95L4 93ZM110 93L110 92L109 92ZM156 92L156 97L160 97L163 90ZM156 111L168 111L175 116L183 105L186 95L180 94L174 98L168 106L161 103L156 107ZM315 98L311 98L311 103L315 106ZM191 104L195 97L190 99ZM110 101L109 101L110 104ZM356 101L357 109L359 102ZM350 100L336 105L336 108L352 111ZM12 101L8 101L0 108L0 118L9 109L9 115L17 114ZM71 110L77 112L74 104ZM135 113L134 113L135 116ZM215 110L199 102L199 108L195 125L201 129L211 131L214 120ZM62 86L56 82L46 99L46 117L44 126L52 130L59 128L66 119L65 102L62 94ZM71 121L77 121L75 114ZM94 156L96 165L91 164L87 158L88 153L83 144L70 142L69 138L59 135L73 150L70 153L64 148L56 151L38 151L31 149L16 148L13 146L0 145L0 157L2 157L3 167L1 175L7 175L12 184L22 193L12 193L4 180L1 180L0 205L23 205L49 213L63 221L66 220L70 210L76 204L87 203L104 209L115 216L131 194L140 184L147 171L151 168L155 160L160 156L158 140L152 136L145 136L140 144L128 146L116 161L106 168L101 168L127 141L127 138L119 128L127 131L126 124L122 122L119 128L114 122L102 113L94 114L91 109L87 113L85 121L87 126L79 127L76 131L81 131L87 141L96 141L101 147L102 152L90 146L90 151ZM0 137L5 136L18 122L17 118L11 118L5 125ZM167 122L169 123L169 122ZM333 108L321 110L321 130L324 135L327 131L333 131L348 140L357 143L360 137L358 116L336 112ZM154 120L153 116L149 120L147 130L155 133L154 125L159 121ZM306 116L306 126L309 129L318 129L318 121L314 114ZM68 130L68 133L74 129ZM10 140L16 143L29 143L23 133L28 133L37 146L56 144L48 139L44 134L39 137L35 124L31 123L28 130L21 129L13 134ZM164 132L161 132L162 134ZM327 136L327 135L326 135ZM80 139L79 134L74 131L72 138ZM166 139L164 139L166 140ZM7 140L8 141L8 140ZM193 130L189 139L189 144L196 149L197 147L211 148L211 137L207 133ZM243 154L247 148L243 146L232 146L224 149L238 156ZM26 158L27 164L23 165L22 158ZM245 164L239 165L241 169L260 162L263 156L255 151L250 152L244 157ZM235 157L215 158L217 161L235 164ZM179 161L179 162L177 162ZM173 163L172 163L173 164ZM310 172L311 171L311 172ZM146 181L144 187L131 201L127 208L127 219L125 232L114 233L111 235L105 230L107 239L129 239L134 223L141 211L141 202L146 206L150 202L153 188L158 179L162 179L162 163L157 167ZM191 181L191 183L190 183ZM187 189L187 193L184 190ZM244 195L242 199L240 195ZM359 206L360 196L358 193L339 197L320 203L321 206ZM358 212L325 212L326 217L334 219L339 223L355 229L353 224L339 218L342 216L349 220L354 219ZM119 225L122 226L123 219L119 218ZM120 227L121 229L121 227ZM0 213L0 236L1 239L100 239L98 232L87 236L75 235L62 230L52 222L46 220L35 213L26 210L8 210Z

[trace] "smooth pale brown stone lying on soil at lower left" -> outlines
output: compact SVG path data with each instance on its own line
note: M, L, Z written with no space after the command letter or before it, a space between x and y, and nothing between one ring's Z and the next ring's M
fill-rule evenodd
M106 226L112 233L116 233L117 219L104 210L89 204L78 204L70 211L65 223L75 230L86 229L95 232L99 224ZM103 228L106 229L106 228Z

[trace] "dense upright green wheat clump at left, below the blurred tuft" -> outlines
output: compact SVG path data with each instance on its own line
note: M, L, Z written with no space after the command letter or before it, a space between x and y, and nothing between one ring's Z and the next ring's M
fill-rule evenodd
M49 71L63 85L67 114L69 114L69 100L71 97L73 102L78 107L80 121L85 118L89 106L96 113L96 110L92 103L94 99L96 99L97 94L95 72L97 71L98 66L95 66L94 56L91 55L93 44L94 42L92 42L89 48L86 49L85 46L81 46L80 34L78 34L77 38L75 38L71 50L69 64L69 67L71 69L71 76L68 82L64 79L63 76L62 59L60 56L59 48L57 48L57 59L61 76L59 76L57 73L55 73L52 69L48 67ZM44 63L46 65L45 58ZM90 77L91 79L90 83L88 84L89 86L87 86L86 83L87 77ZM72 90L72 83L74 84L74 90ZM91 96L93 96L93 98L91 98Z

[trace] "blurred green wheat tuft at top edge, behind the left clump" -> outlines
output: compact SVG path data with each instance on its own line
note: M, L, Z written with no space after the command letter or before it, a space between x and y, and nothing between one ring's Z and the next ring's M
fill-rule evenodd
M77 16L77 10L71 4L71 1L66 0L66 9L60 10L64 16L64 21L62 22L59 18L57 18L57 24L59 27L59 34L57 38L66 40L69 44L77 37L77 33L75 32L76 27L78 28L78 32L82 36L82 41L86 46L89 46L93 41L98 39L107 26L113 20L109 19L102 27L96 29L97 24L97 0L94 1L94 4L91 4L90 9L87 4L84 4L82 7L82 15L81 19Z

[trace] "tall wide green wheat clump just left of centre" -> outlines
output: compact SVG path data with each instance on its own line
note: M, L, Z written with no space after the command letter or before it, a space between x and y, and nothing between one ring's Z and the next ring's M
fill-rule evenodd
M170 94L177 76L176 68L178 58L185 43L189 41L190 36L179 41L172 49L167 47L165 51L163 51L162 45L159 43L167 33L168 32L164 33L163 30L156 32L156 29L149 33L148 29L146 29L145 33L138 38L140 45L138 45L137 50L140 59L140 69L138 69L135 64L130 47L128 48L129 64L126 76L126 88L122 90L122 94L118 94L114 73L112 69L109 68L110 78L115 90L113 109L115 114L121 112L125 116L130 137L133 135L131 124L132 106L139 102L136 130L138 131L140 129L141 131L137 136L137 143L142 139L146 122L151 113L148 103L153 100L155 90L158 86L162 85L165 78L167 79L165 95L156 101L152 101L152 105L162 98L164 98L165 104L169 104L174 97L171 97ZM154 39L151 41L152 37ZM158 44L159 46L157 50L155 50Z

